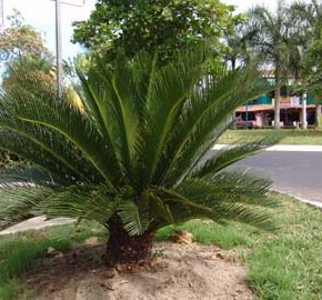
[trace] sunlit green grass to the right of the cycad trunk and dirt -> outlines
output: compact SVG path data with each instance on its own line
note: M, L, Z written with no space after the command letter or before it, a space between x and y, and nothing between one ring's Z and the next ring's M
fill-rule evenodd
M180 229L192 232L198 242L237 248L258 299L322 299L322 211L285 196L274 197L282 203L273 212L281 226L274 234L239 223L222 227L202 221ZM158 239L165 239L171 230L162 229Z

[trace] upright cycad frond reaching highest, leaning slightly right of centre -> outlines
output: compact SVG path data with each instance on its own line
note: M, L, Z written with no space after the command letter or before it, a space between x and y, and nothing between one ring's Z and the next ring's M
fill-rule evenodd
M158 173L158 163L185 106L189 91L202 79L203 62L201 52L189 53L178 63L159 70L150 82L147 124L140 128L140 139L137 143L140 173L143 174L145 183L151 182Z

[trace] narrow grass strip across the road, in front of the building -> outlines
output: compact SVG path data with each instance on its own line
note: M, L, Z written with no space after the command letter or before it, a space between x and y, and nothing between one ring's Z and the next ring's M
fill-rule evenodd
M285 137L280 141L281 144L322 144L321 130L280 130ZM227 130L219 139L218 143L231 144L239 140L256 140L274 132L273 129L254 129L254 130Z

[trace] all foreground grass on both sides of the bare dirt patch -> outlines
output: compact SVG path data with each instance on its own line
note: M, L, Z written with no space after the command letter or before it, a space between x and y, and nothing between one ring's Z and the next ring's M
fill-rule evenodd
M230 223L190 221L177 228L193 233L195 241L235 249L246 264L249 286L259 299L321 299L322 294L322 213L320 209L300 203L292 198L273 194L281 206L273 214L280 226L276 233ZM91 229L89 229L91 228ZM173 228L160 230L157 240L167 240ZM28 294L19 282L19 274L43 256L48 247L64 251L72 243L91 236L104 237L92 223L52 227L2 237L0 240L0 299L17 299Z

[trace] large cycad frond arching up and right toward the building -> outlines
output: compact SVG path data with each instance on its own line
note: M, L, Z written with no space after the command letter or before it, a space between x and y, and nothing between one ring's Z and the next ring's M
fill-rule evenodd
M238 106L271 89L268 82L259 82L258 79L259 73L253 66L228 76L222 74L217 84L207 83L205 89L189 102L169 141L171 148L164 152L164 157L170 160L162 179L165 187L177 184L195 168L230 126L228 118ZM162 161L164 163L167 161Z

